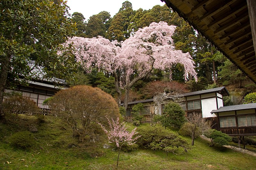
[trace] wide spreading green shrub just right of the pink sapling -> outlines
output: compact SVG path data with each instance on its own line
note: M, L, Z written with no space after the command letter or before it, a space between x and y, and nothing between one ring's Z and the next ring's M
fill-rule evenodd
M137 131L140 134L137 141L140 147L174 154L181 154L190 149L186 140L161 125L139 127Z

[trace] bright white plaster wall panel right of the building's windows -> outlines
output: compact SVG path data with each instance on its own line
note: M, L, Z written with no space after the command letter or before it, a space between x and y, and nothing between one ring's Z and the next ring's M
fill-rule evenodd
M216 117L217 115L211 114L212 110L217 110L216 98L203 99L202 104L202 115L203 117Z

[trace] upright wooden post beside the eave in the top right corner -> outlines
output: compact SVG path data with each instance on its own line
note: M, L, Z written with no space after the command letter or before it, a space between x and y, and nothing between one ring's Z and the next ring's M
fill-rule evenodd
M251 30L252 30L253 47L254 47L254 52L256 54L256 1L247 0L247 6L248 6L248 13L249 13Z

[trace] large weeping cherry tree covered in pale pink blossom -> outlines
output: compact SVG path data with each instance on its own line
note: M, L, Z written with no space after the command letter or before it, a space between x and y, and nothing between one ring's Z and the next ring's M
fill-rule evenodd
M112 73L121 104L121 88L125 90L124 107L127 108L129 92L137 81L146 78L152 70L165 70L180 63L184 77L196 77L194 62L189 53L174 49L172 34L175 26L165 22L152 23L139 29L123 42L109 41L103 37L73 37L66 45L73 44L77 62L90 71L99 68ZM170 76L172 74L170 73Z

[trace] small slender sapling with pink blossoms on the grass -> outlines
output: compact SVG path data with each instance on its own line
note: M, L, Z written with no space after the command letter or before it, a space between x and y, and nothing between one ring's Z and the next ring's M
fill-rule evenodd
M107 118L108 119L108 118ZM106 132L108 135L108 140L110 143L114 143L116 147L119 149L118 150L118 157L117 157L117 163L116 167L118 166L118 160L119 160L119 155L122 149L122 146L124 144L135 144L136 140L140 136L133 137L136 135L138 132L136 132L136 128L132 130L132 132L127 131L126 127L124 126L124 123L119 123L119 118L117 118L116 121L112 119L112 122L108 119L108 124L109 124L109 130L107 130L102 124L99 123L101 128Z

